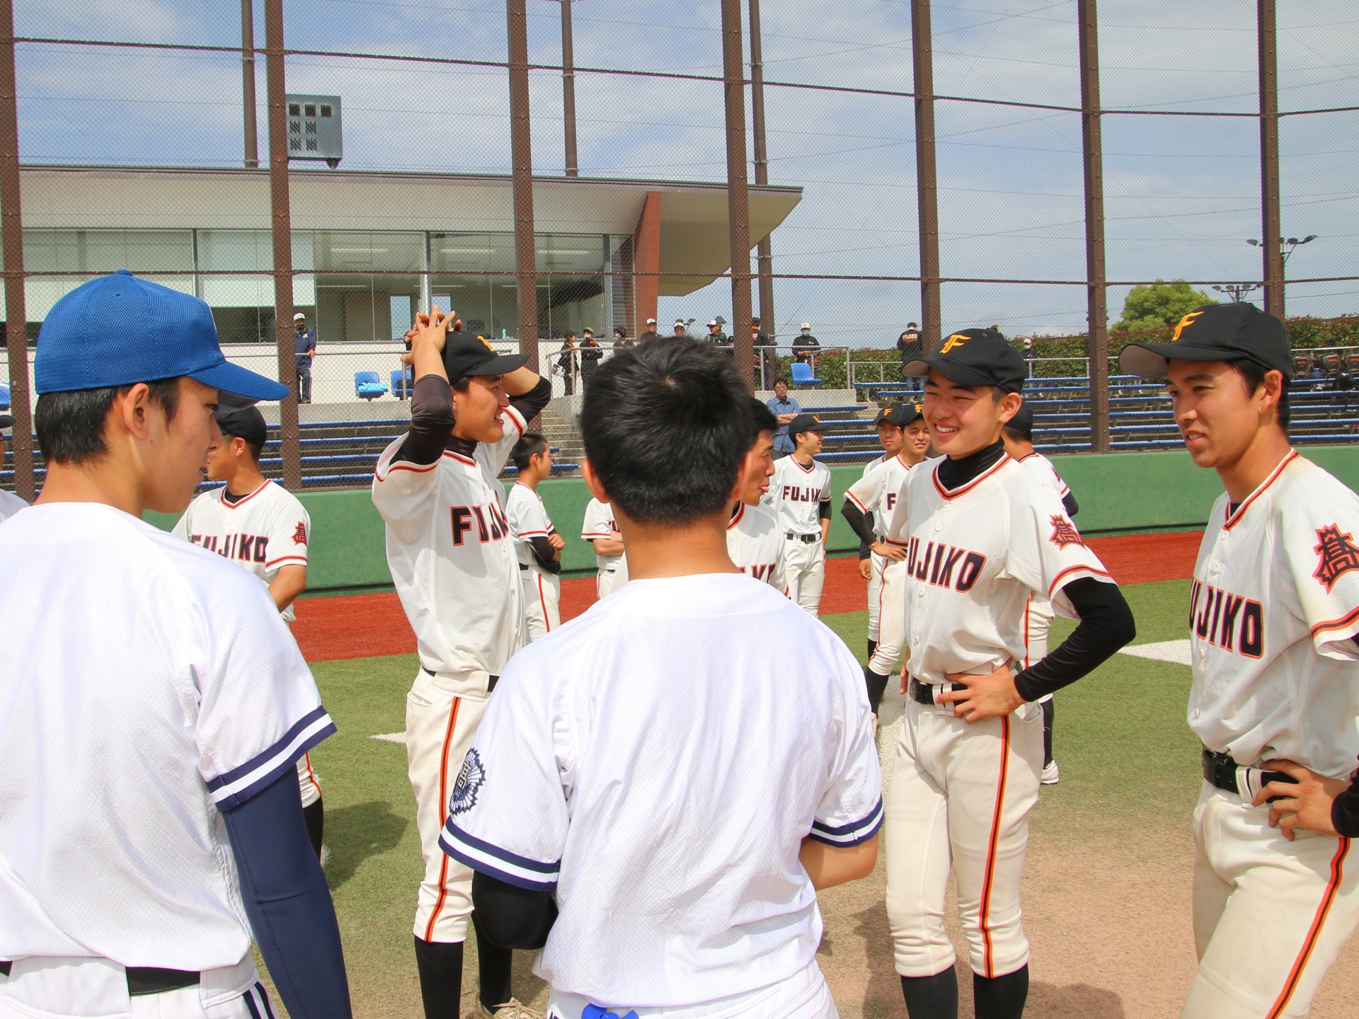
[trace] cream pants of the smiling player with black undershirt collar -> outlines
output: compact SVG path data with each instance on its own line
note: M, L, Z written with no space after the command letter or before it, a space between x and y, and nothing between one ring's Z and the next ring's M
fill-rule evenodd
M943 923L950 865L973 971L1003 977L1029 962L1019 883L1041 770L1037 704L969 726L953 705L906 701L883 804L898 974L932 977L954 965Z

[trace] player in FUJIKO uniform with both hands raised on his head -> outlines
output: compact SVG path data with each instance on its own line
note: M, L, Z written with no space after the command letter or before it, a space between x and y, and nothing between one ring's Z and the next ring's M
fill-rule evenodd
M372 481L387 565L420 655L406 697L406 761L424 856L414 950L427 1019L459 1016L472 914L472 871L439 849L448 793L506 663L526 640L519 557L496 477L552 395L523 355L448 333L450 321L434 307L406 334L416 375L410 431L383 450ZM511 1003L511 954L477 929L478 1008L491 1014Z

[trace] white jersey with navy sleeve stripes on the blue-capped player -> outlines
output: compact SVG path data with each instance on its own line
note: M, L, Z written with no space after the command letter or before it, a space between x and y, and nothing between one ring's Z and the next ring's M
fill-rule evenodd
M5 520L0 576L0 959L238 963L219 811L334 732L273 601L96 503Z

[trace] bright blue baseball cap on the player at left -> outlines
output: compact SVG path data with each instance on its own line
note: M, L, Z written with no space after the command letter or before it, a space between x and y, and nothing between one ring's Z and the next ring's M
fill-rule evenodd
M227 361L205 302L126 269L80 284L53 306L38 330L34 375L39 395L181 375L212 386L228 406L288 395L283 383Z

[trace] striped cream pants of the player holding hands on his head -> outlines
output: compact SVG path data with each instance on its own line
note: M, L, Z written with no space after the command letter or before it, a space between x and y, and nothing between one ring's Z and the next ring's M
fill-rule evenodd
M406 694L406 770L416 793L416 827L425 872L416 898L414 935L423 942L467 940L472 868L439 846L448 796L487 709L487 673L429 675Z

